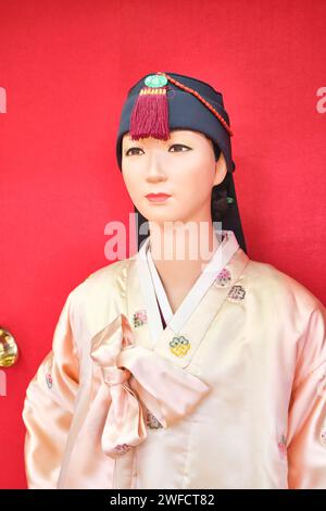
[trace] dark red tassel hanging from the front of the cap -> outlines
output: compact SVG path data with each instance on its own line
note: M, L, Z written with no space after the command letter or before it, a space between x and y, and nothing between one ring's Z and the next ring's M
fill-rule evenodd
M134 140L170 138L166 87L143 87L140 90L131 112L129 133Z

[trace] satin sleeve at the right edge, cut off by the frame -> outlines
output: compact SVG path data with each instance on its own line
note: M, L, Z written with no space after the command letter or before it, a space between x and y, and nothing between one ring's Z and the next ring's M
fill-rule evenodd
M326 489L326 313L314 310L299 346L288 420L288 486Z

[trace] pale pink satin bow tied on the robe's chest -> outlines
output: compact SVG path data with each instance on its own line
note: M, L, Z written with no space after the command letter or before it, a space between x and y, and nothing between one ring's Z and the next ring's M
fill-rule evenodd
M143 406L163 427L168 427L191 413L210 391L192 374L136 345L124 314L92 338L91 358L102 370L93 404L98 413L106 415L101 446L112 458L147 438Z

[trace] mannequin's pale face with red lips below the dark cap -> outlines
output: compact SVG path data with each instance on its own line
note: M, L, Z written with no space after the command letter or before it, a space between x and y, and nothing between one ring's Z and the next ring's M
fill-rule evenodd
M213 142L202 133L171 130L168 140L123 137L122 172L138 211L153 222L204 220L211 211L212 188L225 177L223 153L215 161ZM161 202L148 194L168 194Z

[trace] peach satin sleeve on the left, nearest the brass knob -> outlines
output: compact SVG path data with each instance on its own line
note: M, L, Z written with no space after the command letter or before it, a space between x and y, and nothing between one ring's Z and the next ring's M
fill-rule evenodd
M79 360L70 320L71 295L57 323L52 349L29 383L23 407L29 489L54 489L74 414Z

